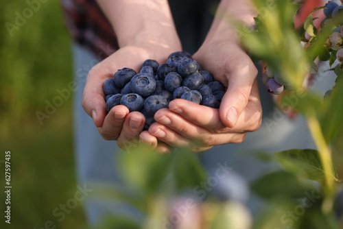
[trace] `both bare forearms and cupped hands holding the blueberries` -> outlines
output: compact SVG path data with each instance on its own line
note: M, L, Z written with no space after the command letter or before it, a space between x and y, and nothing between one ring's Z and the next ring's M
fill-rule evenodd
M166 61L169 53L182 50L174 22L165 0L98 0L100 8L113 25L120 49L97 64L87 77L82 106L93 118L99 133L107 140L117 140L126 149L140 138L159 153L170 147L187 147L194 152L214 145L241 143L246 132L261 125L261 104L257 88L257 69L240 47L226 16L252 24L254 12L249 1L222 1L204 44L193 58L213 73L215 80L228 87L220 109L206 108L184 99L175 99L169 109L156 112L156 123L141 132L145 117L115 106L106 115L102 84L117 69L130 67L139 71L146 59ZM135 15L135 16L132 16ZM199 115L201 114L201 115Z

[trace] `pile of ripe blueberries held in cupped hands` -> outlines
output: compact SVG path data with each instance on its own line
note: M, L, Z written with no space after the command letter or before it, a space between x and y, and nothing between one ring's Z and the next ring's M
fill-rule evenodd
M145 60L141 71L119 69L104 82L106 109L123 105L145 116L145 128L154 123L154 114L168 108L173 99L187 99L211 108L219 108L225 93L224 85L213 75L202 71L187 51L171 53L166 64Z

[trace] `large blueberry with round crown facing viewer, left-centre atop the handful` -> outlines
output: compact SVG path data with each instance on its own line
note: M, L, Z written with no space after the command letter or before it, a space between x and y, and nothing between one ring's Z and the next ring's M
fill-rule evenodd
M134 75L132 78L130 88L133 93L137 93L142 97L148 97L154 94L156 89L156 80L151 75L139 73Z

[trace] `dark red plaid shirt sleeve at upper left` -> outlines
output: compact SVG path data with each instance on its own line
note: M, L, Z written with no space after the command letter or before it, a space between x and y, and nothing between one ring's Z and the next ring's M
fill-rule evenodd
M65 23L73 39L99 60L118 49L113 28L95 0L61 0Z

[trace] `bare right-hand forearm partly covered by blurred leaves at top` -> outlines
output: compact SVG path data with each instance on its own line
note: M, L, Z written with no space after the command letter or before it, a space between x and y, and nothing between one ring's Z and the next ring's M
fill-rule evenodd
M255 24L254 16L256 16L256 11L250 0L222 0L205 43L220 40L239 43L235 34L235 22L239 21L246 27L250 27Z

